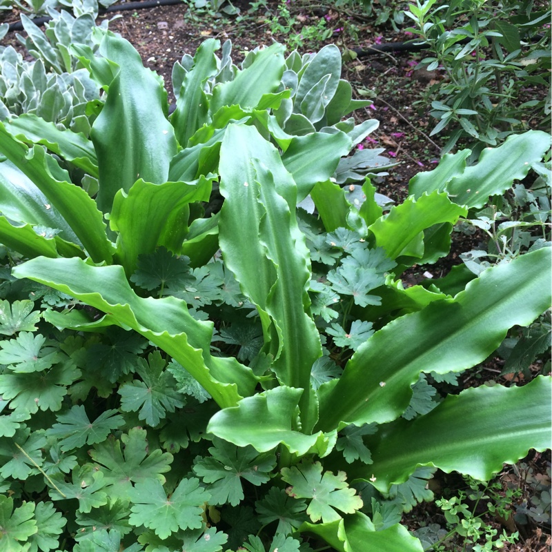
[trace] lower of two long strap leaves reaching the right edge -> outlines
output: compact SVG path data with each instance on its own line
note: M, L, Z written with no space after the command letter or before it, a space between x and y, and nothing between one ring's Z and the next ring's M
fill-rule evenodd
M383 426L368 445L373 464L356 466L351 477L362 473L384 492L406 481L417 466L489 480L529 449L549 448L551 391L552 379L540 376L523 387L480 386L446 397L413 422Z

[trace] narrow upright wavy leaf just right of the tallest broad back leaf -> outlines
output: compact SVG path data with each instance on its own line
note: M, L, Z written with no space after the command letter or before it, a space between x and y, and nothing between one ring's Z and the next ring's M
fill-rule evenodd
M181 146L186 147L195 131L209 121L209 101L203 87L205 81L217 72L215 50L219 48L218 40L202 42L194 56L193 68L186 72L182 80L177 108L170 117L170 124L175 128Z

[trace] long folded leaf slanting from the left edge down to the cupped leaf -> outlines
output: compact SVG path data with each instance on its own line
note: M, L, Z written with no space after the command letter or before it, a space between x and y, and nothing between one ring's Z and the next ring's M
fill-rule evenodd
M0 123L0 152L48 198L50 203L43 208L55 207L93 261L111 262L112 244L107 238L106 224L95 201L83 188L62 179L68 177L68 173L61 170L42 146L29 150Z

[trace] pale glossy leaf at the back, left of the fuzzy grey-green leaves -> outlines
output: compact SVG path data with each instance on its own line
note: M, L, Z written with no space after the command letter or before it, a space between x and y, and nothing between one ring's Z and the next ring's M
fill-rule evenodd
M253 63L239 71L232 81L217 84L210 100L210 112L235 104L255 108L265 94L276 92L285 68L284 50L279 43L259 50Z

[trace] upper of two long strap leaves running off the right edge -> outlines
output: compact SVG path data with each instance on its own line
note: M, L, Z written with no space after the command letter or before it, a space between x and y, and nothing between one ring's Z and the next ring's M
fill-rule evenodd
M551 248L485 270L455 299L435 301L377 331L333 386L320 388L317 429L339 422L391 422L420 372L462 371L490 355L506 332L527 326L551 302Z

